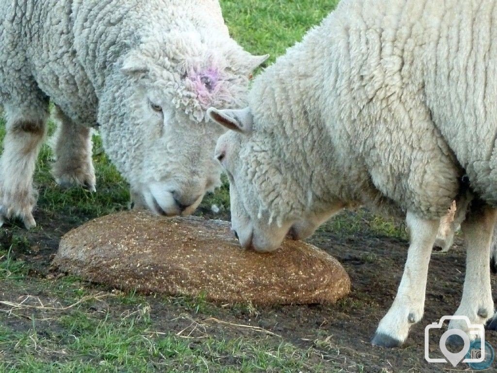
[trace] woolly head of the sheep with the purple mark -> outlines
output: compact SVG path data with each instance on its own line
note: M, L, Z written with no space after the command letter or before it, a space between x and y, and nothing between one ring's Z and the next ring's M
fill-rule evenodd
M212 153L224 131L207 123L206 109L243 105L249 75L267 58L226 37L209 40L193 31L143 40L100 99L106 152L135 204L159 214L190 214L219 185Z

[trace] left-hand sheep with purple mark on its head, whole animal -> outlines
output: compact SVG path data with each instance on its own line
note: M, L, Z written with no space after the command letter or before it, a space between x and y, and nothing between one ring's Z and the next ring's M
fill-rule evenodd
M137 205L189 214L220 183L213 104L246 103L252 56L217 0L12 0L0 3L0 225L32 215L49 99L59 129L55 180L95 190L91 127Z

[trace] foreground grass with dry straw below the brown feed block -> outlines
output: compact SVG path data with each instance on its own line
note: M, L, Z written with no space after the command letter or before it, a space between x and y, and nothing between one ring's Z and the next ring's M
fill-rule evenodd
M171 332L157 329L146 296L95 291L74 277L29 279L28 272L0 251L0 290L35 282L43 293L0 299L9 316L0 324L0 372L325 372L319 362L309 365L315 351L280 338L210 335L195 318L206 311L202 297L161 300L184 311L178 318L187 327Z

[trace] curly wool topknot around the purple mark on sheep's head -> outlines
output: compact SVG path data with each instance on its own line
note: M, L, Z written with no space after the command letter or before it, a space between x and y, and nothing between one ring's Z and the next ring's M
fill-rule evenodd
M235 107L245 102L248 66L226 58L236 48L240 47L231 39L212 38L207 44L197 31L171 30L160 39L145 39L138 53L157 65L153 85L165 88L175 109L200 122L214 102ZM236 52L242 57L242 50ZM238 71L230 71L232 66Z

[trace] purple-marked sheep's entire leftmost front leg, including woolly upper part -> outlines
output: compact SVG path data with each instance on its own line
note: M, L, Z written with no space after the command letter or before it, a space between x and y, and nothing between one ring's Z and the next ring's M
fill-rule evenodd
M0 226L18 217L28 229L36 226L33 173L48 119L48 98L29 81L16 85L26 89L12 94L15 101L4 102L6 133L0 158Z

